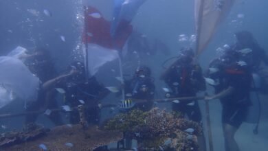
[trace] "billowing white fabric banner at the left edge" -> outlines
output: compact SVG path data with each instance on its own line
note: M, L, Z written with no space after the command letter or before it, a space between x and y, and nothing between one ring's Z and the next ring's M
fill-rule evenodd
M0 56L0 108L14 101L16 97L25 102L36 101L39 79L21 60Z

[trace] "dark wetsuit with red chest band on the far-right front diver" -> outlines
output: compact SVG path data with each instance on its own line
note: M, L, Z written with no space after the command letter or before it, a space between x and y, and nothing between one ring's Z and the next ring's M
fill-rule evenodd
M219 69L210 74L210 78L216 82L215 93L220 93L230 86L234 88L234 92L220 99L223 106L222 122L239 128L247 116L247 107L251 105L251 70L247 66L237 65L236 62L230 62L228 65L222 65L220 62L216 59L210 64L210 68Z

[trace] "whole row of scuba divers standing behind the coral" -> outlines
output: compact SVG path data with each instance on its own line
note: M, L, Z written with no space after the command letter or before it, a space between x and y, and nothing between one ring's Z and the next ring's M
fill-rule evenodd
M222 104L223 137L225 150L239 150L234 139L235 132L247 116L247 108L252 105L249 94L251 91L260 91L254 86L253 74L261 75L260 65L268 65L268 57L250 32L236 32L236 43L225 47L221 55L214 58L203 72L199 64L194 61L194 51L190 47L179 50L177 60L165 69L160 75L168 86L166 98L194 97L199 91L205 91L206 80L214 87L214 95L205 96L203 100L219 99ZM89 124L100 124L100 100L109 95L102 83L93 76L86 80L85 65L83 62L71 62L64 74L58 75L48 51L36 49L33 54L25 56L25 65L42 82L38 92L38 100L28 104L27 111L58 108L56 89L65 90L65 104L75 108L81 104L85 106L85 115ZM56 78L55 78L56 77ZM204 78L205 77L205 78ZM124 81L125 100L121 102L120 112L128 112L134 108L149 111L154 105L155 84L149 67L137 67L133 77ZM134 103L134 100L146 100ZM197 100L171 102L172 111L179 112L192 121L202 124L202 116ZM37 114L25 117L25 123L34 123ZM48 115L56 125L65 124L58 112ZM69 115L70 124L79 123L79 113L73 110ZM200 150L205 150L205 139L198 137ZM127 149L131 146L126 146Z

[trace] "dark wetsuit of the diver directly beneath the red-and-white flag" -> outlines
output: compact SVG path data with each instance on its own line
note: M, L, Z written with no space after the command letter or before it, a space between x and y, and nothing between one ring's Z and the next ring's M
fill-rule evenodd
M90 78L88 82L67 82L65 83L65 103L71 107L81 105L85 102L85 115L89 124L99 124L100 107L99 101L109 94L108 89L98 82L96 78ZM70 123L78 124L80 121L78 111L71 111Z

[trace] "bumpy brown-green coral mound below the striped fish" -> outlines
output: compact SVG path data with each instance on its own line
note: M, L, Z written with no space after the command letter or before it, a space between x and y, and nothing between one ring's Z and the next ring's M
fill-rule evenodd
M125 138L136 139L143 150L198 150L201 126L178 117L159 108L132 110L113 117L104 128L124 132Z

